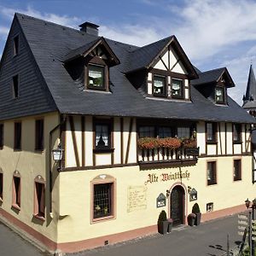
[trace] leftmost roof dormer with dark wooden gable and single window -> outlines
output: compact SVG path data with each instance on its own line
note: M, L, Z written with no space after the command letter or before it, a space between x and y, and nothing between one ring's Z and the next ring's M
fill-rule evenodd
M104 38L98 38L70 51L65 67L83 90L109 91L109 67L119 64L118 57Z

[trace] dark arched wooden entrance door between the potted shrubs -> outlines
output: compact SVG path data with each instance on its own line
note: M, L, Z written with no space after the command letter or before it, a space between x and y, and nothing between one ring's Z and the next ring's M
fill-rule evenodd
M182 186L175 186L171 193L171 218L173 225L184 224L185 191Z

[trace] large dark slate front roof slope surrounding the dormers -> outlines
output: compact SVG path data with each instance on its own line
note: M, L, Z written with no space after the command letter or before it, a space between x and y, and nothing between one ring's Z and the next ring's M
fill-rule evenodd
M162 119L211 120L252 123L254 119L230 97L228 106L217 106L191 86L191 102L149 99L139 93L125 76L131 55L141 67L153 59L170 38L141 50L130 44L106 39L120 64L110 67L110 93L79 90L67 73L63 60L73 49L92 44L98 37L66 26L16 14L40 72L60 113L131 116ZM132 52L132 53L131 53ZM152 54L152 56L150 56Z

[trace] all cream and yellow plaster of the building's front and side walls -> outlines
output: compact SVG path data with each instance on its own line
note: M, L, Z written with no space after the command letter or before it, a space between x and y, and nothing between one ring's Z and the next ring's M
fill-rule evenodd
M198 202L203 216L207 218L207 214L212 213L207 212L209 202L213 203L213 212L218 212L241 206L245 198L252 198L255 195L252 185L249 125L242 125L241 136L244 138L242 143L234 144L231 124L220 123L218 143L212 145L206 143L205 122L198 122L196 130L200 156L195 165L150 167L141 170L137 164L139 150L137 150L136 119L113 118L113 153L96 154L93 152L93 118L66 116L64 117L66 131L62 131L61 137L59 137L60 127L53 132L51 149L56 148L59 142L62 143L65 150L65 164L61 166L61 172L57 172L58 165L52 161L53 191L50 212L49 134L60 124L61 119L58 113L40 116L42 117L44 117L45 148L43 152L34 150L35 120L38 116L19 119L22 123L22 150L17 152L13 150L16 120L4 122L4 147L0 150L3 171L1 208L55 243L86 241L155 226L161 210L166 210L168 218L172 217L171 193L176 185L182 186L185 191L184 219L191 212L195 202ZM82 120L84 125L81 124ZM71 122L74 131L71 129ZM82 126L84 131L81 129ZM76 150L79 153L79 163L84 161L84 166L77 165ZM241 180L234 181L234 160L237 159L241 160ZM154 163L152 158L149 157L148 160ZM217 184L214 185L207 185L208 161L216 161ZM12 178L15 171L20 172L21 177L19 212L11 207ZM44 178L46 184L46 216L43 222L32 216L34 179L38 175ZM114 183L113 218L94 221L93 182L96 179L99 183L102 179L104 183L105 178L107 180L110 178ZM197 201L189 201L190 188L196 189ZM156 207L156 198L160 193L166 195L167 190L170 194L166 196L166 206Z

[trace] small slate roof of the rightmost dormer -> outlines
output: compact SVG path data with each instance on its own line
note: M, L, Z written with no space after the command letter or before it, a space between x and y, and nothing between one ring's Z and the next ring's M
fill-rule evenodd
M212 70L209 70L209 71L206 71L206 72L201 72L201 73L198 73L199 79L192 80L191 84L198 86L198 85L201 85L201 84L217 83L218 80L220 79L220 77L224 73L227 73L229 75L226 67L220 67L220 68L212 69ZM232 82L232 84L234 84L232 79L231 79L231 82Z

